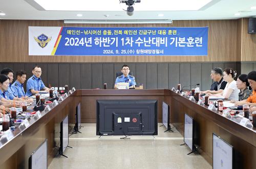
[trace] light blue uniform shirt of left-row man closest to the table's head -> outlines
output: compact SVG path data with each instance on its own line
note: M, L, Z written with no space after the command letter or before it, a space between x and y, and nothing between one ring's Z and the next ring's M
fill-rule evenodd
M27 81L27 93L26 96L33 95L31 93L31 89L34 89L35 91L40 91L41 89L44 89L46 86L44 82L42 82L42 79L39 77L37 78L35 75L30 77Z

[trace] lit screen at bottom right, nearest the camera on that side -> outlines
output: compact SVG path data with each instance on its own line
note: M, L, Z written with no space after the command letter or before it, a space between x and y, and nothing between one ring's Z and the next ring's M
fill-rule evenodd
M221 137L212 133L212 168L233 168L233 147Z

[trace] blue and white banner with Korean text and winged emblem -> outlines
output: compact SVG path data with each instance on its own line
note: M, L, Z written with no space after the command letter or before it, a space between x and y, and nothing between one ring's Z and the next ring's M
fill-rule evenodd
M29 26L29 55L207 55L208 27Z

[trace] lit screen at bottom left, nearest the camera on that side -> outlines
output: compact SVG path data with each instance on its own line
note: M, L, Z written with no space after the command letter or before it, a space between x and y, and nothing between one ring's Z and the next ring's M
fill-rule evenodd
M29 169L47 168L47 139L30 155Z

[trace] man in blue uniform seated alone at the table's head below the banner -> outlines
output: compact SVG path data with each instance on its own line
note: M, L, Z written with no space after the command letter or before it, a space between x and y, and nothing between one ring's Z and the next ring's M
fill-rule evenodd
M129 87L134 87L136 85L135 77L130 75L129 66L123 65L121 72L123 73L121 76L116 78L115 89L117 89L117 83L119 82L129 82Z

